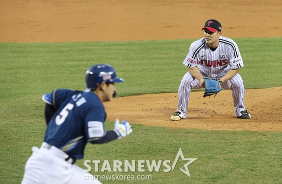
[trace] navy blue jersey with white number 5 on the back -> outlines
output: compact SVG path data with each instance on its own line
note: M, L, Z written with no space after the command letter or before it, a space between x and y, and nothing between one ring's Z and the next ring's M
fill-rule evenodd
M49 121L44 142L69 156L82 159L86 143L106 134L104 105L90 90L58 89L46 94L45 99L48 97L48 100L43 100L52 104L57 111Z

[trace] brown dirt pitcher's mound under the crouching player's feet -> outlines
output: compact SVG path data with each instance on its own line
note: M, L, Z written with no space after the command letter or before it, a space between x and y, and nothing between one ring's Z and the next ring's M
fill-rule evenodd
M251 119L235 117L231 90L210 98L202 94L192 92L187 117L180 121L170 120L177 108L177 93L114 98L105 103L107 118L188 129L282 131L282 87L246 90L245 105Z

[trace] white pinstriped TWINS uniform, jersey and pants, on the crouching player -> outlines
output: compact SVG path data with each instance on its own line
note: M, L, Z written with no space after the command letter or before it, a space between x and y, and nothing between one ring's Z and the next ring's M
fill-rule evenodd
M220 36L216 49L210 49L204 38L194 41L183 64L189 68L198 67L201 75L212 78L222 78L229 69L243 67L243 60L237 44L230 38ZM190 72L187 72L178 88L177 110L181 118L186 118L191 89L202 88L200 82ZM240 74L223 83L224 89L231 89L235 107L235 115L246 110L244 105L245 87Z

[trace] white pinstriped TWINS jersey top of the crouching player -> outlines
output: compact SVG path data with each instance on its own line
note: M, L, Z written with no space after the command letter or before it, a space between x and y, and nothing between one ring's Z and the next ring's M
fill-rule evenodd
M206 76L217 78L229 69L243 67L243 59L235 41L220 36L219 45L213 51L206 44L204 38L194 41L183 64L186 67L198 67Z

